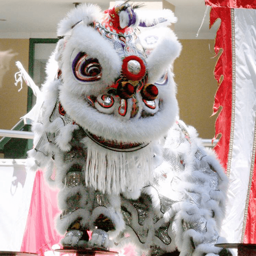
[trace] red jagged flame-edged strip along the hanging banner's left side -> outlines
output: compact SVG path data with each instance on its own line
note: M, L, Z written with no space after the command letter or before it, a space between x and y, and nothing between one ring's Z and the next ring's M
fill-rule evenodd
M218 89L215 94L213 114L221 109L215 122L215 138L221 135L219 142L214 147L220 162L227 170L227 160L230 142L230 128L232 115L232 25L229 8L213 7L210 13L210 26L216 19L225 17L221 21L217 31L214 50L216 55L222 49L222 53L216 63L214 76L218 82ZM214 139L215 139L214 138Z

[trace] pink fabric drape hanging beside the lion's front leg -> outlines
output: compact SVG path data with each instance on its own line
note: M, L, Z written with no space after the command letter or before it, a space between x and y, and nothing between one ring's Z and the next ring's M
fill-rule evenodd
M31 204L28 213L21 251L38 253L44 256L58 244L61 236L55 230L54 218L58 214L57 190L50 188L38 170L34 180Z

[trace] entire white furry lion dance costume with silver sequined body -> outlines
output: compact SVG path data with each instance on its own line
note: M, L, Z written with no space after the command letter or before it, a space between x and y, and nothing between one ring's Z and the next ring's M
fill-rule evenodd
M172 64L181 45L167 27L176 18L139 7L102 13L83 4L60 22L32 167L60 188L65 248L219 254L227 177L177 118Z

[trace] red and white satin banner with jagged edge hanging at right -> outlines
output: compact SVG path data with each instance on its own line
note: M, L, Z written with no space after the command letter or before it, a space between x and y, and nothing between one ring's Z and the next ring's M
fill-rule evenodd
M221 19L215 53L215 146L230 179L222 235L229 243L256 243L256 1L206 0L210 26ZM254 214L253 214L254 213Z

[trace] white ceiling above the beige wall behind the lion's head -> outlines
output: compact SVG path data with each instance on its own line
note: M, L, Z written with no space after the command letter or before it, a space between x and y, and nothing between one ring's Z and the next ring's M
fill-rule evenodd
M0 38L55 38L58 22L74 7L73 2L98 4L109 8L106 0L0 0ZM151 0L152 1L152 0ZM143 2L151 2L144 0ZM214 39L218 25L209 30L209 9L199 36L196 37L206 11L204 0L167 0L175 6L175 32L179 39Z

